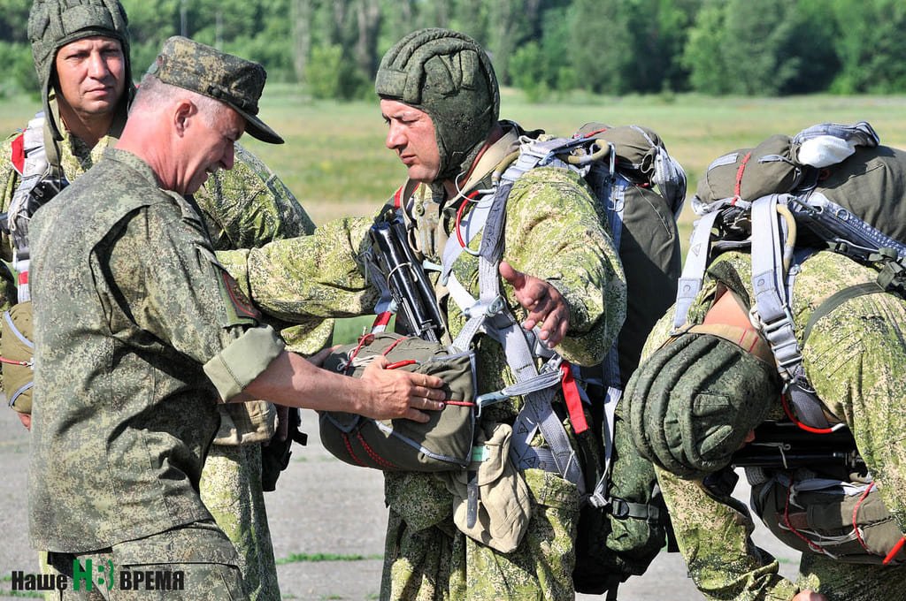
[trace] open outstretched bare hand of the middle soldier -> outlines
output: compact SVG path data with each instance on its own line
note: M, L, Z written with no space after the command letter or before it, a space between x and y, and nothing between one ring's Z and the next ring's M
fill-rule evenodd
M563 295L548 281L534 275L517 272L506 261L500 262L500 276L513 286L516 300L528 310L528 317L522 322L525 329L541 324L541 339L548 348L554 348L566 336L569 329L569 307Z

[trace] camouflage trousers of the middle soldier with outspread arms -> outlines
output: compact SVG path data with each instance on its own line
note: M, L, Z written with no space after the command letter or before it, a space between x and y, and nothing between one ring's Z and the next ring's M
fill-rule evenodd
M576 487L549 472L524 474L531 491L531 520L516 550L501 553L456 528L452 497L437 478L387 472L390 519L381 599L573 599Z

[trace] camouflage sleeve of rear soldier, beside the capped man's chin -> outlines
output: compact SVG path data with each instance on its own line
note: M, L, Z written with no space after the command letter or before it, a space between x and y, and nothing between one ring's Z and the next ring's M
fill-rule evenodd
M311 218L283 181L239 144L233 168L210 176L195 200L218 250L255 248L314 232Z

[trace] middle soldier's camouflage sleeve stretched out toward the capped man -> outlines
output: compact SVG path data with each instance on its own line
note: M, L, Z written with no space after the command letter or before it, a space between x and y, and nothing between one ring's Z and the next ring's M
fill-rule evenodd
M378 300L359 259L370 245L371 224L371 217L346 217L310 236L220 252L217 258L255 305L278 319L362 315Z

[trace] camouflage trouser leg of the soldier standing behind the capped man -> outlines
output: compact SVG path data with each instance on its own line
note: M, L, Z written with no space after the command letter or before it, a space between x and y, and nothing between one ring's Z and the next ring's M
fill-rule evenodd
M199 489L201 501L236 548L249 598L279 601L274 547L261 488L261 444L212 444Z

